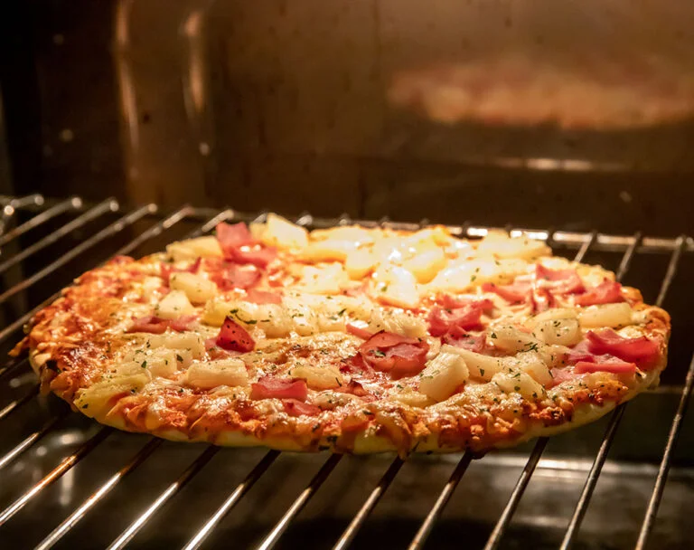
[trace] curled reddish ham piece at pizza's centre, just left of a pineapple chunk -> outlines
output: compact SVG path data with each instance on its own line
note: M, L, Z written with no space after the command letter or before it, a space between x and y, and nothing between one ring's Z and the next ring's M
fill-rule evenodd
M391 378L420 373L427 361L429 345L417 338L402 337L380 331L359 347L364 362L376 370L387 372Z

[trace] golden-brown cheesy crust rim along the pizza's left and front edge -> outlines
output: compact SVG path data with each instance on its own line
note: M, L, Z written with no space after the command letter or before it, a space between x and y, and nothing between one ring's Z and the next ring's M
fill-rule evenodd
M176 441L356 453L483 451L591 422L657 384L667 363L669 315L643 304L637 289L624 288L624 298L642 315L639 333L656 338L661 348L657 364L633 377L582 375L548 388L534 399L498 388L492 391L491 383L470 382L464 391L441 403L415 406L391 398L388 391L393 383L379 374L370 382L382 387L370 399L355 398L341 385L316 393L323 399L330 394L337 404L323 401L317 415L293 416L228 385L201 389L185 384L180 377L153 382L151 377L141 380L143 375L135 374L128 378L130 385L124 383L102 406L87 408L80 401L81 392L103 383L108 368L120 360L124 349L144 345L144 340L127 334L126 327L138 313L149 310L143 284L158 276L162 261L161 256L110 261L85 273L33 318L29 334L14 353L29 350L44 392L58 394L98 422ZM322 360L320 354L341 365L346 356L357 353L360 344L359 338L343 333L267 340L263 348L267 355L249 359L247 365L250 372L266 372L271 365L283 368L297 354L309 362Z

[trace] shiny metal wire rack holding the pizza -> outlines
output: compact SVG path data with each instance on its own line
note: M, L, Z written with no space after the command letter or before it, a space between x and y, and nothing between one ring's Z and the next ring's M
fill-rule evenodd
M51 287L51 283L52 279L56 274L60 273L61 269L73 261L80 261L80 270L95 267L96 263L93 262L93 260L95 257L98 258L98 255L95 256L93 252L99 248L111 250L108 249L107 242L121 233L130 232L132 238L129 242L117 248L113 255L128 254L136 251L140 246L155 238L164 238L165 240L169 232L174 230L174 226L179 226L179 224L183 222L198 224L192 232L188 232L185 235L196 236L205 232L210 232L216 223L220 221L261 220L265 215L263 213L259 215L238 213L231 209L217 211L184 205L174 213L169 213L164 216L159 213L155 204L145 204L135 209L125 209L122 205L118 204L116 200L111 198L96 205L88 205L85 204L80 197L70 197L66 200L54 201L45 199L42 195L38 194L32 194L26 197L0 196L0 206L2 206L2 221L0 221L0 275L5 275L5 287L2 293L0 293L0 306L10 303L14 299L21 298L25 293L31 291L38 285L43 285L44 288L59 289L60 287ZM29 213L28 219L23 223L17 223L17 215L19 212ZM30 236L32 232L38 228L56 222L66 213L74 214L74 217L72 217L69 222L58 224L52 231L47 232L45 236L42 236L39 240L29 242L23 246L16 246L16 243L19 242L20 239ZM83 232L89 223L99 220L106 221L108 216L116 216L115 221L107 223L99 231L89 232L89 234ZM154 223L152 223L153 220ZM401 229L417 229L428 223L426 220L421 223L392 223L388 219L382 219L379 222L351 220L346 215L338 219L327 220L315 218L308 213L302 214L296 218L295 221L296 223L312 227L329 227L336 224L360 223L366 226L380 224ZM148 223L148 225L144 229L135 230L136 224L138 223ZM460 226L451 227L451 231L455 234L468 237L483 236L490 229L491 228L474 225L472 223L464 223ZM546 241L553 248L575 250L576 253L574 257L577 261L584 260L586 254L593 251L611 251L619 253L621 254L621 259L619 267L616 270L618 279L624 278L637 255L647 255L649 253L667 254L667 267L664 277L660 281L657 299L655 299L655 303L658 305L663 304L668 296L671 284L678 275L682 259L694 251L694 241L685 235L664 239L644 236L640 232L633 235L608 235L598 231L563 232L546 229L523 229L512 226L507 226L505 230L511 232L513 235L524 233L530 236L530 238ZM27 261L35 258L48 247L61 242L61 240L67 237L75 237L75 235L77 235L78 242L54 260L45 265L41 264L42 267L35 270L30 276L20 274L18 280L13 281L11 284L6 282L6 276L14 269L23 268L23 265ZM26 304L24 304L24 309L26 309L26 311L22 311L16 318L6 321L5 326L0 330L0 344L5 345L7 343L12 343L14 339L17 339L19 337L19 330L33 314L57 296L58 292L50 295L48 299L42 299L37 305L30 303L29 306L26 306ZM687 353L691 353L690 347ZM11 360L5 363L5 365L0 366L0 384L8 384L7 381L14 375L26 370L26 358ZM694 358L692 358L689 363L683 386L678 386L678 391L680 393L679 402L674 416L669 419L669 435L665 442L664 450L661 451L660 465L657 468L657 475L653 481L645 515L642 523L638 526L639 535L634 544L639 550L646 546L657 521L658 508L661 503L663 491L666 488L668 473L671 469L674 451L680 436L693 385ZM16 397L14 400L4 405L0 404L0 406L2 406L2 408L0 408L0 421L5 422L10 420L12 416L23 409L27 403L32 403L34 400L38 399L38 389L38 385L34 382L33 387L22 396ZM580 498L578 498L573 514L565 528L563 540L559 545L562 549L569 548L576 543L577 534L586 515L586 510L591 503L591 497L596 489L601 471L605 467L605 461L614 441L615 434L623 420L626 408L627 404L624 403L618 406L610 416L592 466L587 471ZM61 408L59 411L54 412L38 429L32 430L29 433L24 432L21 441L15 444L12 449L5 452L4 456L0 457L0 479L2 479L3 473L6 473L6 469L9 465L23 460L28 450L32 449L39 441L56 430L57 426L70 416L70 414L71 413L67 409ZM94 450L97 450L99 445L101 445L103 441L106 441L112 432L113 430L108 427L102 427L98 429L98 431L95 431L86 441L80 444L74 452L65 456L57 466L43 475L41 479L36 480L32 487L27 488L19 497L14 498L5 509L0 510L0 535L2 534L3 527L11 522L16 514L23 510L24 507L30 505L35 499L39 498L46 488L49 488L54 482L61 479L61 477L69 474L70 470L80 463L81 460L85 459ZM156 438L148 439L130 460L127 460L120 469L117 469L115 473L106 479L89 498L86 498L78 507L75 507L73 511L62 519L61 523L55 526L52 532L44 536L42 541L35 547L45 550L60 543L61 539L66 536L70 530L87 518L89 513L98 507L99 503L105 500L128 475L138 469L146 460L155 454L155 451L159 450L162 444L163 442ZM483 545L485 550L492 550L499 547L499 545L502 544L504 536L508 534L514 513L521 504L521 499L523 498L526 488L529 486L533 472L538 468L547 444L548 440L546 438L542 438L535 443L527 462L522 468L521 475L512 488L508 501L496 521L496 525L493 526L491 533L488 534L486 544ZM137 515L135 520L133 520L110 545L108 545L109 550L117 550L128 545L148 522L156 517L164 505L172 500L187 483L201 472L218 452L220 452L219 448L206 446L204 450L183 469L179 476L171 480L170 484L165 487L163 491L149 499L149 505ZM189 540L187 542L183 541L183 548L185 550L200 548L215 529L220 528L225 518L228 517L234 507L236 507L249 493L249 490L253 488L258 480L264 476L267 469L270 469L277 461L280 454L281 453L276 450L267 451L267 453L258 460L255 466L249 470L248 475L230 491L228 497L221 502L219 507L217 507L209 517L206 517L197 529L190 534ZM281 542L282 536L286 533L287 528L295 522L295 519L301 514L304 507L314 497L326 479L329 479L333 469L337 467L341 460L360 459L342 457L337 454L329 455L327 459L324 460L320 469L314 474L313 479L311 479L305 488L299 492L291 505L286 508L285 513L279 518L276 525L262 538L258 545L259 549L269 550ZM381 498L384 497L391 483L397 479L400 470L407 461L408 460L395 458L390 462L385 473L382 474L380 480L370 490L368 497L362 502L361 507L358 507L354 512L352 520L342 529L342 533L335 533L333 548L342 550L352 544L354 538L360 533L361 529L370 521L374 509L378 506ZM436 528L440 517L444 514L446 505L454 495L455 489L459 485L461 479L464 479L464 474L473 461L474 457L471 453L464 453L458 460L449 479L445 482L443 488L438 491L436 500L429 508L426 517L421 519L420 526L415 536L408 544L409 549L416 550L424 547L427 542L427 537Z

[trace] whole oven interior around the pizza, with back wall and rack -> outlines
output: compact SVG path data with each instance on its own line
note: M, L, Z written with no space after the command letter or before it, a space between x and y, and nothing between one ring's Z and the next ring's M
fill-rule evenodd
M671 0L6 8L3 354L110 256L267 210L527 231L642 289L673 333L659 388L474 459L150 440L3 360L0 546L694 547L693 24Z

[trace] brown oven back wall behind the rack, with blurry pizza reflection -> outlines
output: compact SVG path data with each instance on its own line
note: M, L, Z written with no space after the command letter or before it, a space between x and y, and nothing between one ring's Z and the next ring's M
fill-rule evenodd
M3 90L21 192L691 230L690 118L615 126L616 108L600 100L658 81L661 92L638 96L652 98L645 113L686 89L687 5L50 0L20 11L13 25L4 18L15 42ZM521 86L494 120L444 123L436 109L393 101L403 73L471 63L495 75L488 98L509 79L498 70L509 57L550 67L562 83L555 93L574 77L598 81L568 109L592 105L590 124L561 111L520 123L533 98ZM652 57L664 61L643 61ZM612 63L612 81L600 58Z

